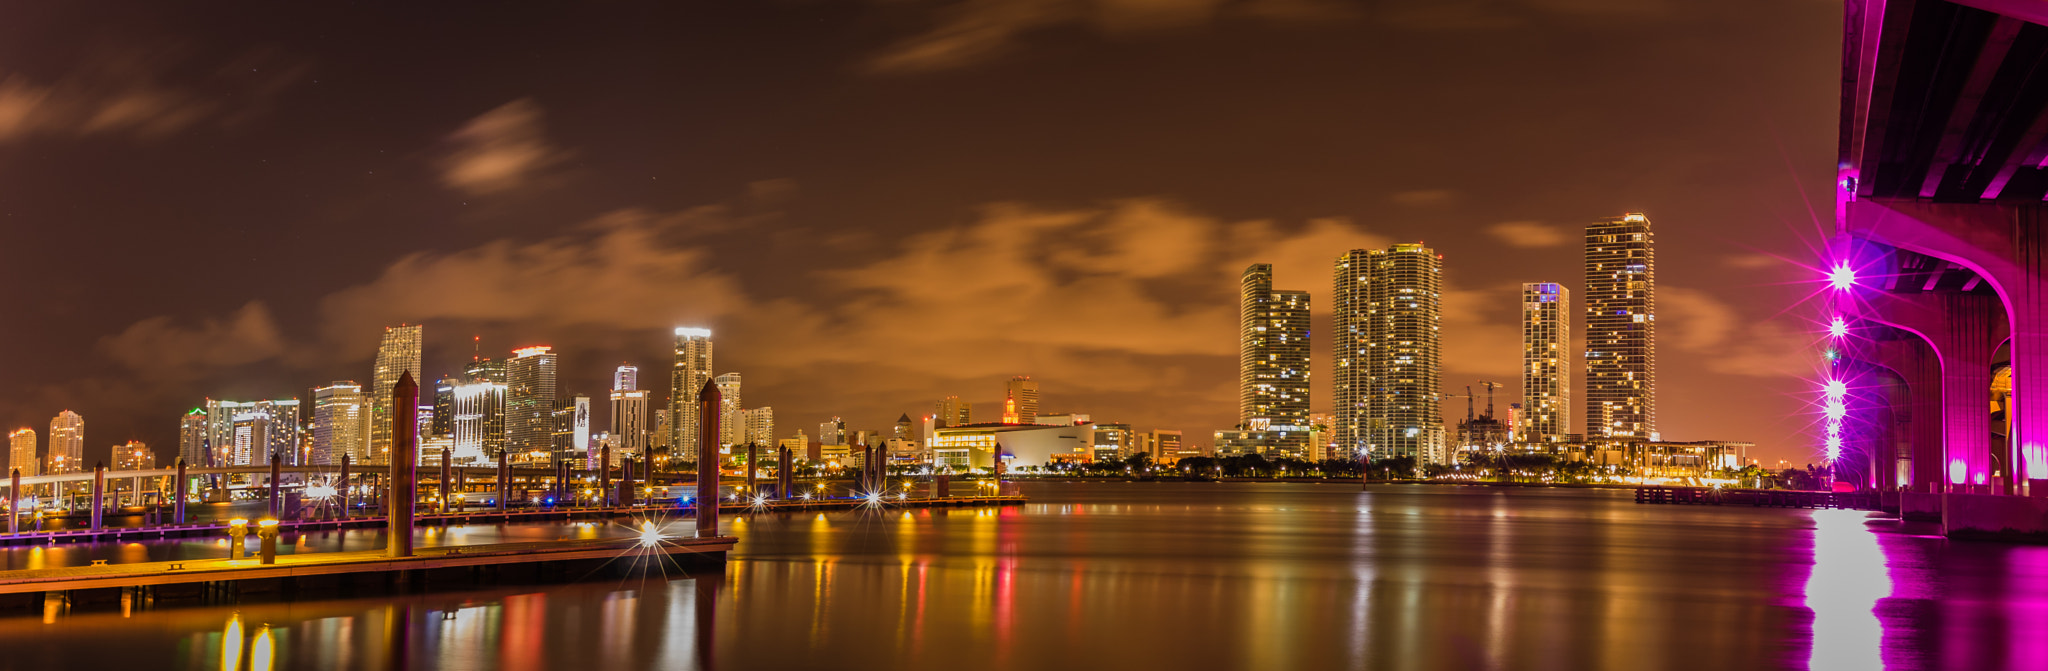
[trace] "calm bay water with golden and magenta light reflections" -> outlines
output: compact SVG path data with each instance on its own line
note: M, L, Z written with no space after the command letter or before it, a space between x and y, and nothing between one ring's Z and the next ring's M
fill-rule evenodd
M729 532L743 542L723 575L676 581L8 618L0 669L135 659L176 669L268 659L276 669L1059 671L2048 661L2048 548L1948 542L1858 511L1413 485L1026 493L1034 503L1008 509L737 516ZM524 532L467 536L477 534Z

